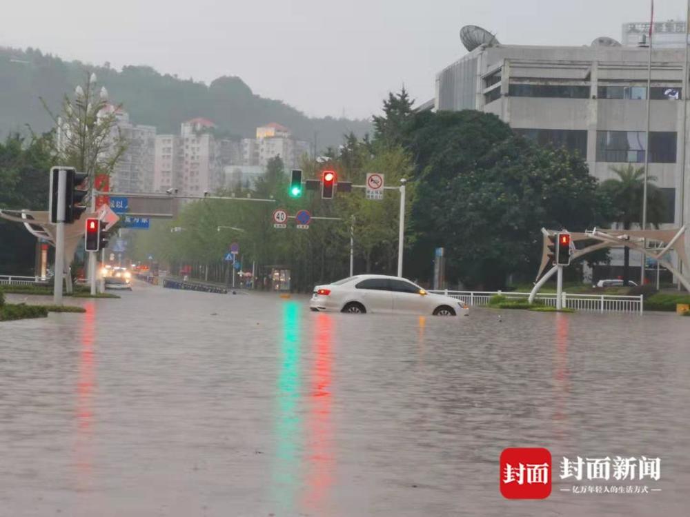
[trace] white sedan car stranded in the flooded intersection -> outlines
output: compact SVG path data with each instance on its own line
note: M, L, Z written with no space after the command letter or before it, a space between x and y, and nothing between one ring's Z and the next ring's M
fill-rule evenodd
M431 294L400 276L360 274L317 285L309 302L313 311L382 312L458 316L469 314L466 303Z

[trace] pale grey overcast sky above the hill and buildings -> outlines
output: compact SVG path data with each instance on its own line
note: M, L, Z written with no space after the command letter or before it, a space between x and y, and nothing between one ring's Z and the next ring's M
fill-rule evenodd
M685 4L656 0L655 20L684 19ZM32 0L5 3L0 45L206 83L237 75L311 116L368 117L403 83L431 99L435 73L466 53L464 25L584 45L648 19L649 0Z

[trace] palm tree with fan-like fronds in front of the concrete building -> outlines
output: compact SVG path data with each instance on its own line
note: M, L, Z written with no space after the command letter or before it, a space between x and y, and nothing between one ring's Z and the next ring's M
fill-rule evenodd
M635 168L631 163L611 167L618 178L602 182L602 190L609 195L616 212L616 221L623 230L630 230L635 223L642 225L642 196L644 195L644 167ZM647 176L647 222L659 227L666 211L666 201L661 190L651 183L655 176ZM644 263L644 259L642 259ZM624 248L623 285L629 285L630 248Z

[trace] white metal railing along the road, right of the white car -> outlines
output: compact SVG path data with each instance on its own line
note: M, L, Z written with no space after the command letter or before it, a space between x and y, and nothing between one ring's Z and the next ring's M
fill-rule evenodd
M501 292L501 291L429 291L445 294L464 301L467 305L489 305L491 296L500 294L506 298L528 298L529 292ZM644 301L640 296L618 296L615 294L568 294L563 293L563 307L582 311L597 312L639 312L644 311ZM538 294L536 298L544 305L556 306L556 294Z

